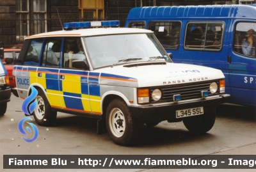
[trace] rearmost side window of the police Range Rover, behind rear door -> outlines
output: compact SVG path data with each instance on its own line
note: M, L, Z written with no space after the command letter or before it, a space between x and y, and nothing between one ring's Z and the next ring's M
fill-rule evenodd
M43 40L43 38L31 40L24 59L24 65L38 66Z

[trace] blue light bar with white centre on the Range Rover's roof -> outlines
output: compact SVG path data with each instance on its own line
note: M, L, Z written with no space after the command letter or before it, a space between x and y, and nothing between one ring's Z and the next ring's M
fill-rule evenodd
M79 29L79 28L86 28L86 27L113 27L113 26L120 26L119 20L110 20L110 21L94 21L94 22L66 22L63 24L65 30L70 29Z

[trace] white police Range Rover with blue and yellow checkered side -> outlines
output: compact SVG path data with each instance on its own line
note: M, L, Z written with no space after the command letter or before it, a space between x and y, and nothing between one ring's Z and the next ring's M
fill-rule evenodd
M26 98L36 88L36 122L51 125L57 111L98 118L99 131L106 121L118 145L135 143L144 124L164 120L183 121L191 132L209 131L216 105L230 97L223 73L173 63L152 31L102 27L117 25L65 23L63 31L26 38L12 91Z

